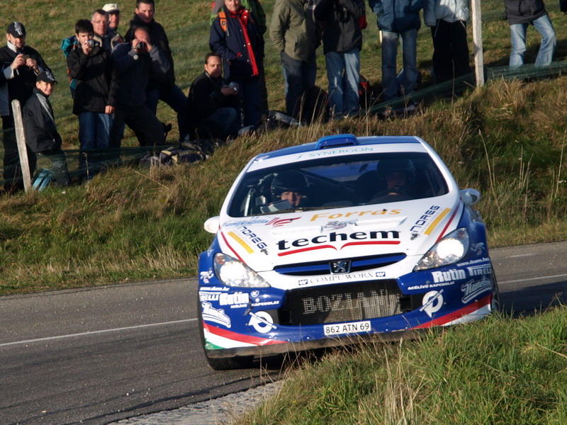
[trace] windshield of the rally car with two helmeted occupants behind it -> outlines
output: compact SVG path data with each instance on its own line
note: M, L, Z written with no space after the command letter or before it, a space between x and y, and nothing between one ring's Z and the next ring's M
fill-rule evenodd
M372 205L445 195L447 182L426 153L364 154L283 164L247 173L231 217Z

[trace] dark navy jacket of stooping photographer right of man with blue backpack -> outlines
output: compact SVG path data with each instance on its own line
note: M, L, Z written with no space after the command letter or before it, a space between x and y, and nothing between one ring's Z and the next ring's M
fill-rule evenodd
M169 62L154 45L149 53L138 55L128 42L117 45L111 54L116 84L115 103L119 108L142 106L150 77L163 82L167 79Z

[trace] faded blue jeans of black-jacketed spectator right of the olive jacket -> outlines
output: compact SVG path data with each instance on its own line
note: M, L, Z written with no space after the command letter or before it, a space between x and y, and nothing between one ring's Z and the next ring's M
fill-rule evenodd
M329 105L335 117L359 111L360 52L327 52ZM344 75L343 75L344 72Z

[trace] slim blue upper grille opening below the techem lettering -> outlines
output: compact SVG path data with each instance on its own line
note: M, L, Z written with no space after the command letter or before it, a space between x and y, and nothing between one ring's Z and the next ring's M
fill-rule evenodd
M386 267L390 264L397 263L405 259L405 254L383 254L383 255L373 255L373 256L362 256L347 259L335 259L326 261L313 261L311 263L295 263L295 264L284 264L283 266L276 266L274 270L280 274L288 276L314 276L321 274L330 274L330 262L331 261L351 261L350 271L362 271L369 270L370 268Z

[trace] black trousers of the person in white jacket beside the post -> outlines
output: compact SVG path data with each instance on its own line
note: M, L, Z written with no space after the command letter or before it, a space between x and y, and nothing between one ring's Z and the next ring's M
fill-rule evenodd
M433 37L433 72L438 83L468 74L466 22L437 21L431 28Z

